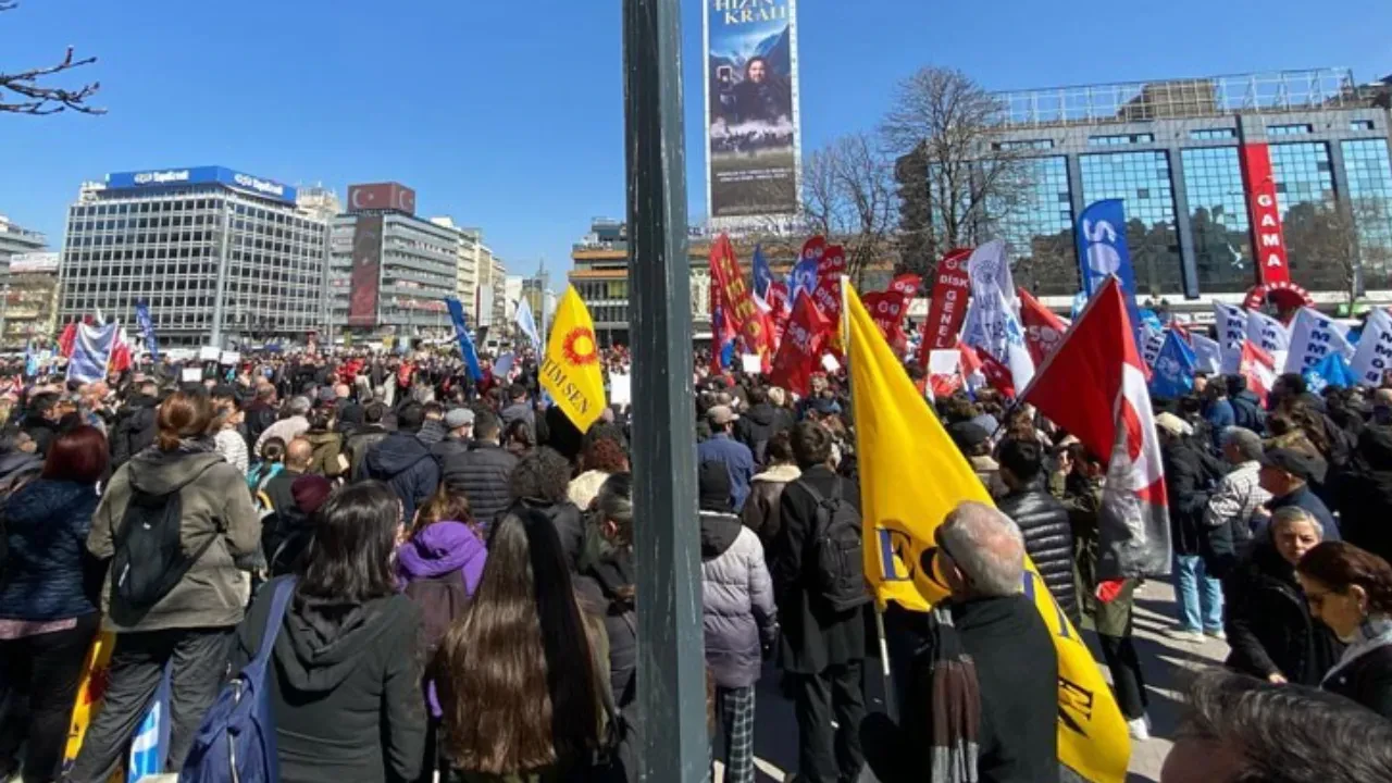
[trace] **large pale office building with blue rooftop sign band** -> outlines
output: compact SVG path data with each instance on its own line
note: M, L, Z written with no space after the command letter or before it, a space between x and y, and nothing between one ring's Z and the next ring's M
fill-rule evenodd
M221 166L107 174L68 208L58 325L135 323L163 346L302 341L322 327L326 223L296 189Z

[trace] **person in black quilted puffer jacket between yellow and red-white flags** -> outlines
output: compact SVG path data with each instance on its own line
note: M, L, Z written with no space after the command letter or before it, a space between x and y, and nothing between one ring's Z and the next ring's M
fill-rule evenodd
M1045 486L1044 450L1037 440L1009 439L997 458L1008 492L995 504L1019 525L1034 570L1073 627L1079 627L1083 617L1073 581L1073 527L1068 509Z

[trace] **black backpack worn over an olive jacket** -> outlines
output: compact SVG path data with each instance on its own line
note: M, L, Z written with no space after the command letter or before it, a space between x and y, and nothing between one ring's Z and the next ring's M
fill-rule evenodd
M118 607L135 613L153 607L217 539L213 534L196 552L185 555L180 536L184 515L181 490L216 464L209 461L166 495L139 489L131 476L131 500L116 531L116 555L111 557L113 614Z

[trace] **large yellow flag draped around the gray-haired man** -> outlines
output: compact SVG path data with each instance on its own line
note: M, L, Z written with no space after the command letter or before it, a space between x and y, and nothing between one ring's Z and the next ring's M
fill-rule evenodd
M866 532L866 578L881 603L926 610L947 595L923 573L920 556L933 534L963 500L991 503L966 458L913 387L903 365L860 304L846 294L851 400ZM1058 649L1058 755L1087 780L1126 779L1126 720L1087 645L1025 561L1025 594L1034 600Z

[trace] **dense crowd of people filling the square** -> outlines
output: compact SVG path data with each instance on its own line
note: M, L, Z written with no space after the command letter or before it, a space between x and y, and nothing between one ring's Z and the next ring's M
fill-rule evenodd
M166 766L181 769L263 646L287 783L638 780L633 541L656 522L635 517L626 410L578 431L544 404L535 359L483 383L458 361L372 355L182 378L33 379L0 411L0 780L107 780L166 679ZM884 607L887 715L864 695L874 607L845 378L800 398L759 376L693 382L724 780L754 780L771 674L798 780L1068 779L1026 557L1097 633L1148 737L1140 580L1098 578L1107 465L1066 432L990 390L937 403L995 503L937 529L920 566L948 600ZM1392 734L1392 389L1315 396L1283 376L1260 404L1240 379L1200 378L1157 407L1172 634L1232 651L1194 681L1164 780L1392 779L1392 744L1371 741ZM99 634L114 638L106 688L65 765ZM1272 748L1282 727L1322 744Z

